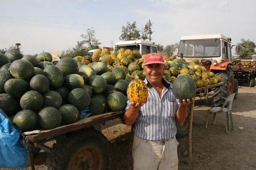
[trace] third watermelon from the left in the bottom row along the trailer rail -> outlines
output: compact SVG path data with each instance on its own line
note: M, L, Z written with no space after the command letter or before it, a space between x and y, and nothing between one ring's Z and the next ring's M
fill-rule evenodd
M58 110L62 117L62 123L64 124L74 123L79 118L78 109L71 104L64 104Z

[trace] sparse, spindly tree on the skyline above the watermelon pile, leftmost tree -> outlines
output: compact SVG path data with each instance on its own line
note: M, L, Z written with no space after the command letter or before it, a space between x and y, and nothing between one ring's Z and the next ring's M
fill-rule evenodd
M82 38L84 38L84 40L82 40L80 43L82 43L81 45L83 46L85 44L87 44L89 46L89 49L98 49L99 45L101 44L99 42L98 39L96 39L95 37L95 30L94 29L86 29L86 34L82 34L80 35Z

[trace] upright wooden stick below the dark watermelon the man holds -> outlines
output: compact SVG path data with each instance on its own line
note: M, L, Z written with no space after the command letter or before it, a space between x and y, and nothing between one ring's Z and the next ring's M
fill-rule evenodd
M188 157L192 158L192 123L194 114L194 102L190 104L189 108L189 122L188 122Z

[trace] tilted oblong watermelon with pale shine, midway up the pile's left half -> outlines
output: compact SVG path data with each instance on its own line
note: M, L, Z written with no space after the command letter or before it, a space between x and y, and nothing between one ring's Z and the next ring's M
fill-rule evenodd
M64 76L57 66L46 66L44 74L50 81L50 86L59 88L64 83Z

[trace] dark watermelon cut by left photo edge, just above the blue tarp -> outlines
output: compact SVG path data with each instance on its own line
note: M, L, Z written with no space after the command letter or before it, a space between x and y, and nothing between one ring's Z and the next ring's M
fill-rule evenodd
M13 115L17 113L19 104L9 94L0 94L0 108L6 115Z

